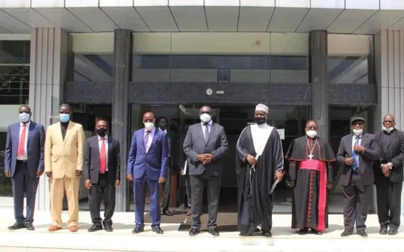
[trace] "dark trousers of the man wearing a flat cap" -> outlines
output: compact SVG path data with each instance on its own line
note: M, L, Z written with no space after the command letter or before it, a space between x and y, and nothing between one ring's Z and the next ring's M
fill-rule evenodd
M361 174L352 172L347 186L343 186L344 193L344 229L353 231L366 229L366 217L371 200L372 187L361 182Z

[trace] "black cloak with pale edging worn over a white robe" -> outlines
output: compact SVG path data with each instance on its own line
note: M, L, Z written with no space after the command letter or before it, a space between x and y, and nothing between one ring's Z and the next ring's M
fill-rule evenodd
M237 227L241 235L251 235L261 225L263 232L272 228L272 195L269 194L274 182L275 171L283 168L282 142L273 127L262 155L255 165L255 172L245 159L246 154L256 156L252 141L251 126L241 132L236 144L237 175Z

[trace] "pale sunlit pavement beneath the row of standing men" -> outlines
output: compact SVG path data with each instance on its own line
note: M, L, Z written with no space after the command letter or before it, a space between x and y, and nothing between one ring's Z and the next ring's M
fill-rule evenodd
M221 232L219 237L201 233L189 237L188 232L177 231L178 224L162 224L164 234L145 232L132 234L134 214L115 213L114 232L104 230L88 233L91 226L89 212L80 212L80 230L70 233L66 228L49 233L49 213L35 213L35 231L25 229L9 231L14 223L12 209L0 210L0 251L2 252L57 252L57 251L403 251L404 232L399 230L395 236L379 235L376 215L368 216L368 238L351 235L341 238L342 215L330 215L330 228L323 235L298 235L290 229L290 215L274 215L273 237L240 237L238 232ZM63 220L67 213L63 214Z

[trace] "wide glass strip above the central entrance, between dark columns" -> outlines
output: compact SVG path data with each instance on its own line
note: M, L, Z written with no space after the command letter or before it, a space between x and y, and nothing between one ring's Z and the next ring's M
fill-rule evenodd
M308 83L307 55L133 55L134 82Z

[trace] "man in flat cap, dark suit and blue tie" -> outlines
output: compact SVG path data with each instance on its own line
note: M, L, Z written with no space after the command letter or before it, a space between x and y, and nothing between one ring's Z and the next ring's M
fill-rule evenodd
M364 124L362 117L351 119L353 134L342 137L337 153L337 161L343 165L343 237L352 234L355 224L360 236L368 236L365 222L374 180L373 162L379 158L379 148L373 134L364 132Z

